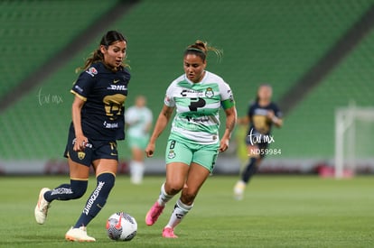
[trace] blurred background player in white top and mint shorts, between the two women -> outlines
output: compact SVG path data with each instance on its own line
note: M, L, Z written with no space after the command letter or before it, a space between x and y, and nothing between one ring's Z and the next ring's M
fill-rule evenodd
M127 124L126 140L131 148L130 162L131 182L141 184L145 171L145 147L149 141L149 131L152 126L152 112L146 107L145 96L136 96L135 106L126 109Z

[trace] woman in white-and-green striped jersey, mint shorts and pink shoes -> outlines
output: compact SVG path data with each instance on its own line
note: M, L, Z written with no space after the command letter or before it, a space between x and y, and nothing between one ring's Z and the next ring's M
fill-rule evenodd
M164 107L158 116L145 153L152 157L157 137L164 131L176 109L165 152L166 181L154 206L145 216L146 225L154 225L166 203L182 190L169 223L165 238L176 238L174 227L192 209L199 189L213 170L219 152L229 147L237 111L229 85L219 76L205 70L207 52L220 51L206 42L196 41L183 56L184 74L166 90ZM226 129L219 137L220 107L226 114Z

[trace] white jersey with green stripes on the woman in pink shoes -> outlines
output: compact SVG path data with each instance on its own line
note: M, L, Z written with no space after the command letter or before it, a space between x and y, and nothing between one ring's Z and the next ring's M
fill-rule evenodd
M205 71L201 82L193 83L185 74L176 78L166 90L164 104L176 108L171 137L189 142L219 142L220 107L234 99L229 85L219 76Z

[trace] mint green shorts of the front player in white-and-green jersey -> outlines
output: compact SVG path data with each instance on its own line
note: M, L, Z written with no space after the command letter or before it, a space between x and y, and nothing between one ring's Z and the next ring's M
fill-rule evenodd
M195 144L169 139L165 161L166 164L182 162L188 165L195 162L211 172L217 160L218 149L219 144Z

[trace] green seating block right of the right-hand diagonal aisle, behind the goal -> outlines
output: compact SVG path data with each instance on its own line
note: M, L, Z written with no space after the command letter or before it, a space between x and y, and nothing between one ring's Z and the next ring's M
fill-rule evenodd
M275 134L286 157L332 158L335 110L351 103L373 106L373 43L374 31L286 117Z

